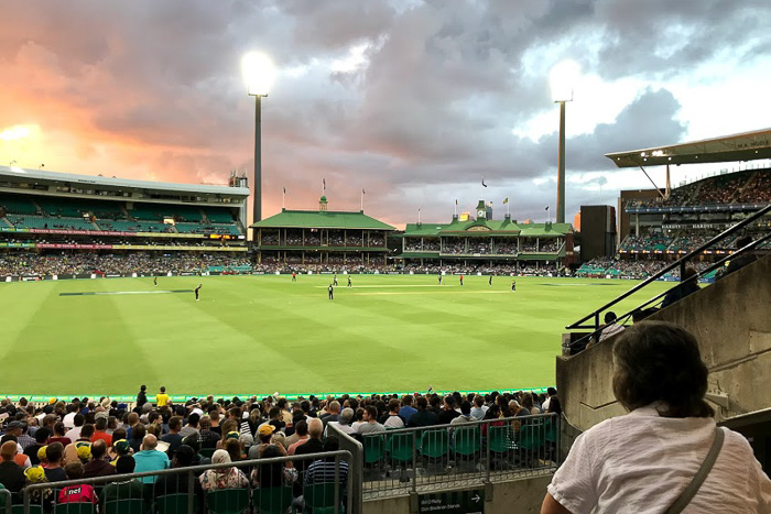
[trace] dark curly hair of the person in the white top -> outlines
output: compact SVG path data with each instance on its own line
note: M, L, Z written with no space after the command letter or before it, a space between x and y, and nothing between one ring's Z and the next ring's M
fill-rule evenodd
M682 327L641 321L613 346L613 394L628 411L662 402L664 417L713 417L705 402L706 364L696 338Z

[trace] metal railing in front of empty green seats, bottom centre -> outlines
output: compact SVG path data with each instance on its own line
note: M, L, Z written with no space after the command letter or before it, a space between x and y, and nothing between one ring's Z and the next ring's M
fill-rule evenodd
M363 436L337 429L361 473L361 499L550 474L561 462L556 414L484 419ZM358 464L356 462L359 462Z

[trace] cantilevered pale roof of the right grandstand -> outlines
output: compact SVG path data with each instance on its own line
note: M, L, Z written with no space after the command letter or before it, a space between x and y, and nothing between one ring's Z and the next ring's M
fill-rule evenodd
M606 153L605 156L618 167L771 158L771 129L669 146Z

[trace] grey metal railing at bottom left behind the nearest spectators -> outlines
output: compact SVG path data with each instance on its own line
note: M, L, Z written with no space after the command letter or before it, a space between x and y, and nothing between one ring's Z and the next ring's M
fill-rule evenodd
M286 462L293 462L295 467L301 468L300 471L296 474L284 471ZM347 466L341 466L343 462ZM352 507L351 495L355 490L355 477L348 471L352 463L354 458L349 451L338 450L34 483L14 494L14 503L22 501L23 511L19 512L23 514L52 510L54 514L96 514L97 508L101 514L259 513L287 512L290 508L304 512L305 507L357 514L360 510ZM226 480L225 477L232 473L234 468L239 470L236 473L238 478L231 477L230 480ZM210 472L207 475L210 481L216 483L222 480L228 486L215 486L204 491L199 477L207 472ZM294 477L296 479L293 480ZM75 506L73 503L59 502L59 495L67 496L68 493L82 499L91 497L91 492L86 485L93 488L95 496L98 497L98 503L93 503L91 508L87 500ZM2 492L0 490L0 493ZM4 512L9 514L11 503L9 493L4 503Z

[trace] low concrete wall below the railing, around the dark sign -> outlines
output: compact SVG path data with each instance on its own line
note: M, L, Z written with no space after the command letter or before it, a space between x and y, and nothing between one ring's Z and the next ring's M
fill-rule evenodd
M539 513L551 481L552 477L545 475L489 484L485 492L485 514ZM457 490L464 489L481 488ZM410 496L398 496L365 502L363 514L410 514L417 512L416 508L417 502L411 503Z

